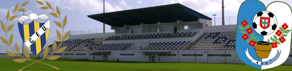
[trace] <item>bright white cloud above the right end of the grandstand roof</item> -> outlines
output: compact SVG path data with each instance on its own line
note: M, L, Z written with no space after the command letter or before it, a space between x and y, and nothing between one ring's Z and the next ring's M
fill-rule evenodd
M181 3L201 13L222 10L222 0L163 0L164 4ZM241 3L237 0L225 0L224 10L238 10Z

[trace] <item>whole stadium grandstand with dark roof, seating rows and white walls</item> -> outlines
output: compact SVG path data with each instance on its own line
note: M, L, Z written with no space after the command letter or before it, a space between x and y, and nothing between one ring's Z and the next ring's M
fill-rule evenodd
M54 55L104 61L244 64L235 51L236 25L213 26L212 18L180 3L88 17L111 26L114 32L70 35L61 45L67 49ZM288 58L283 65L292 65L291 61Z

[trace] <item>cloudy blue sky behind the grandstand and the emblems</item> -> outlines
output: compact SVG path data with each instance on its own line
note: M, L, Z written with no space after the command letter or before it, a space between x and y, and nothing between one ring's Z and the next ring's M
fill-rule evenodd
M0 20L3 22L6 22L6 13L7 10L13 10L14 6L17 3L23 3L27 0L2 0L0 3ZM44 0L40 0L44 2ZM244 0L225 0L225 17L228 16L237 16L238 9L240 4ZM289 5L292 5L291 0L279 0L284 1L288 3ZM65 17L67 15L67 26L65 27L65 31L69 30L86 30L86 29L98 29L98 32L102 32L102 23L98 22L96 20L93 20L91 18L88 18L87 15L93 15L93 14L99 14L102 13L103 8L103 0L48 0L49 3L53 6L53 8L56 8L55 6L58 6L58 8L61 11L61 17ZM272 0L265 0L263 3L267 6L269 3L273 2ZM181 3L189 8L192 8L193 10L196 10L204 15L207 15L208 17L213 18L213 14L217 14L216 17L222 17L221 13L221 0L105 0L105 12L113 12L113 11L119 11L119 10L128 10L128 9L135 9L135 8L144 8L144 7L150 7L150 6L159 6L159 5L165 5L165 4L171 4L171 3ZM23 7L27 9L26 15L29 15L30 13L36 13L38 15L46 14L51 19L51 31L50 31L50 37L56 36L55 30L61 30L57 28L57 26L53 23L53 20L60 21L59 19L49 15L48 13L52 12L52 10L42 10L39 9L41 6L37 4L34 0L29 0L29 3ZM21 12L16 12L13 15L18 15L19 17L22 16ZM12 22L9 22L8 24L15 24L12 31L9 33L14 33L14 40L13 44L17 42L18 44L21 44L21 38L18 31L17 26L17 17ZM234 19L236 17L233 17ZM218 19L220 20L220 19ZM29 20L28 20L29 21ZM31 20L29 22L31 22ZM38 22L44 22L43 20L36 20ZM235 19L236 21L236 19ZM227 23L227 22L226 22ZM221 24L221 22L217 22L216 18L216 24ZM236 24L236 22L232 23ZM110 30L110 26L106 25L106 32L112 32ZM3 34L4 32L0 31L0 36L5 37ZM2 42L0 42L0 45L4 45Z

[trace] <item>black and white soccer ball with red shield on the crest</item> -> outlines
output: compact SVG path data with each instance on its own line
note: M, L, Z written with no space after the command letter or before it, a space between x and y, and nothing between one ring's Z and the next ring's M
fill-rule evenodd
M258 12L253 17L253 29L260 35L270 35L277 28L277 19L269 11Z

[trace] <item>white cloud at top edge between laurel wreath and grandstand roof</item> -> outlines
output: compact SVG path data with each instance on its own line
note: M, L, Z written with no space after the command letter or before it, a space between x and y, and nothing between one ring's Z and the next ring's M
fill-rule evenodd
M44 2L44 1L42 1ZM102 13L103 12L103 1L98 0L57 0L49 1L52 6L58 6L62 10L68 11L81 11L84 13ZM123 5L127 5L125 2ZM39 8L39 7L38 7ZM111 5L105 1L105 12L113 12L123 10L119 6Z

